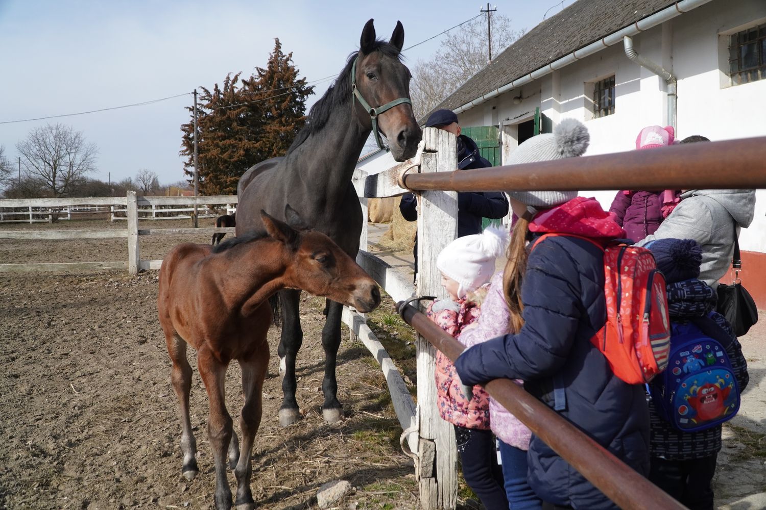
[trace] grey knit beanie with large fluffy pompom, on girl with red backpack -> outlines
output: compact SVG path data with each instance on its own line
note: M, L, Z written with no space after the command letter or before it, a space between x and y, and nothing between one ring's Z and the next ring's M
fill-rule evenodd
M507 164L534 163L581 156L591 135L582 122L564 119L552 133L533 136L522 142ZM508 196L525 205L539 208L558 206L577 197L577 191L509 191Z

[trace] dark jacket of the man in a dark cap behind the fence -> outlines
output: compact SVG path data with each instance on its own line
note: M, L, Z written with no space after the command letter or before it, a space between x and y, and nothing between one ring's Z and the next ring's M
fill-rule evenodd
M466 135L457 137L457 168L472 170L473 168L491 167L492 164L482 158L476 142ZM401 197L399 210L407 221L417 219L417 200L414 193ZM470 236L481 233L483 218L500 219L508 214L508 198L500 191L483 193L457 193L457 236ZM415 273L417 273L417 237L414 246Z

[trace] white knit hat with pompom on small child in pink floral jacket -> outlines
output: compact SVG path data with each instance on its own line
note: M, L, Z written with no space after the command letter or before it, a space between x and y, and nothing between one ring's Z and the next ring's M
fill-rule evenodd
M463 236L450 242L436 258L436 267L460 284L457 297L486 284L495 273L495 258L508 246L506 229L489 226L481 234Z

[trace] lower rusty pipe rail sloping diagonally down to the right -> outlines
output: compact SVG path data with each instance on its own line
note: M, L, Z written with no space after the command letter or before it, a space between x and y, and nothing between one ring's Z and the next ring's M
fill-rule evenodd
M463 344L445 333L415 307L399 301L396 309L410 326L453 362L460 356L460 352L463 352ZM529 427L535 436L545 441L620 508L686 508L516 383L509 379L495 379L486 383L484 388Z

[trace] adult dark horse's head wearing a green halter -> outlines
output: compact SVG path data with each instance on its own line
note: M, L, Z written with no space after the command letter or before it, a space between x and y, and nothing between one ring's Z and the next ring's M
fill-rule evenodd
M409 102L412 75L399 60L403 44L404 28L400 21L396 23L391 40L381 44L375 39L371 19L362 30L352 76L358 99L355 102L357 112L364 122L372 123L371 117L377 122L378 129L388 138L396 161L412 158L423 137Z

